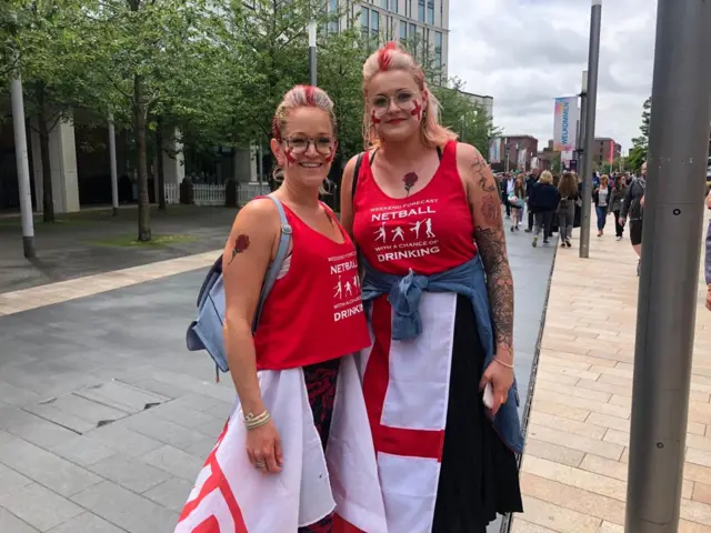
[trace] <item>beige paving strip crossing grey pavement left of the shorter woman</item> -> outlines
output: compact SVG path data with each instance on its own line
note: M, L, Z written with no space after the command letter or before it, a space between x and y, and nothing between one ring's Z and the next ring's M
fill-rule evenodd
M222 250L0 294L0 316L210 266Z

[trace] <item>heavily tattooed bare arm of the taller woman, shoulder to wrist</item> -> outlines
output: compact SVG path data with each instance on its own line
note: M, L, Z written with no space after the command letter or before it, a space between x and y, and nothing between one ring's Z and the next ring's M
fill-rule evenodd
M497 359L513 363L513 279L509 268L499 188L489 164L469 144L459 144L458 164L472 210L474 239L487 271Z

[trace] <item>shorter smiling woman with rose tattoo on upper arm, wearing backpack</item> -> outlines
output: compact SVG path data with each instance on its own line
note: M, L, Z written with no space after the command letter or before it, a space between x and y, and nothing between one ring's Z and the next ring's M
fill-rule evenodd
M337 148L333 103L318 88L296 87L272 134L281 187L239 211L223 254L223 340L239 400L176 531L326 532L338 502L339 516L384 533L378 516L352 511L375 515L382 497L351 355L370 344L356 248L319 201ZM290 248L253 334L283 231ZM333 415L337 392L348 423Z

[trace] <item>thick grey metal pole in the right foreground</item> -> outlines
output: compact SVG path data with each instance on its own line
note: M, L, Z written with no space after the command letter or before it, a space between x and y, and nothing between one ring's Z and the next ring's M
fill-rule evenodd
M709 123L711 3L659 0L627 533L672 533L687 441Z

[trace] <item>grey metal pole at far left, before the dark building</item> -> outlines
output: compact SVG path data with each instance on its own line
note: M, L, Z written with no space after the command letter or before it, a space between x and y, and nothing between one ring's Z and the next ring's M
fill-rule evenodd
M30 163L27 159L27 131L24 129L24 99L22 79L17 74L10 86L12 100L12 124L14 129L14 158L17 162L20 191L20 217L22 219L22 249L24 257L32 259L34 251L34 221L32 220L32 197L30 189Z

